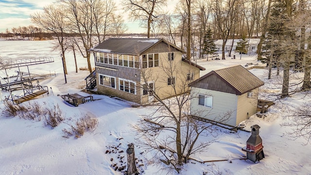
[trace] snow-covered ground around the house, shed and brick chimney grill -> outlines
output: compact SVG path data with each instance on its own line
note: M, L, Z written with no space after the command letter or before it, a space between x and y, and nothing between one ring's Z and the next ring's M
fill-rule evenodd
M51 51L51 41L4 41L0 40L0 57L2 59L27 58L39 56L54 57L53 63L29 66L31 73L56 73L52 78L40 81L40 85L52 88L52 93L43 98L37 98L31 102L37 102L42 106L59 105L63 110L66 120L59 126L51 129L44 125L43 121L31 121L19 118L8 118L0 113L0 174L1 175L122 175L115 171L115 167L126 165L127 144L135 141L135 132L130 124L135 124L140 116L151 111L148 107L134 108L130 102L120 101L103 95L93 95L96 101L87 102L72 107L64 103L57 94L79 93L86 95L81 90L85 87L84 78L88 71L79 70L75 73L73 56L66 55L69 74L68 83L64 83L64 74L60 53ZM236 55L237 59L226 60L196 60L197 64L207 68L201 72L201 76L210 70L217 70L231 65L245 66L247 63L259 64L256 56ZM94 60L92 65L94 65ZM78 68L86 67L86 59L78 57ZM23 68L25 69L25 68ZM27 68L26 68L27 69ZM22 71L22 70L21 70ZM265 82L262 87L269 90L271 82L267 79L266 69L252 69L252 73ZM1 70L0 76L5 72ZM14 70L8 70L9 76ZM17 93L17 92L14 92ZM8 95L2 92L1 98ZM18 94L15 94L18 95ZM299 106L306 99L300 98L303 93L276 101L271 106L266 117L251 116L244 121L245 129L258 124L260 137L263 140L265 158L258 163L249 160L240 160L245 156L241 150L246 145L250 133L238 131L231 133L219 128L218 142L209 146L207 152L193 156L194 158L207 160L222 160L208 163L199 163L191 160L185 165L182 175L203 175L203 172L219 172L223 175L311 175L311 148L305 145L303 139L293 140L287 132L291 127L281 127L280 124L288 120L288 107ZM3 102L0 102L0 112L3 110ZM79 139L65 138L62 129L69 128L84 114L96 117L99 124L93 133L86 133ZM210 139L210 138L202 138ZM159 171L148 162L150 153L139 146L135 147L138 157L139 169L143 175L166 175L166 171ZM108 153L107 153L108 152ZM110 153L109 153L110 152ZM115 166L113 167L113 165Z

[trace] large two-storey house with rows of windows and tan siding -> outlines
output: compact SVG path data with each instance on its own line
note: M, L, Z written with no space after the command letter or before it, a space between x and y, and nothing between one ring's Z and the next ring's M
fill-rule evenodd
M91 48L95 57L97 90L138 104L174 95L200 77L205 68L182 59L185 53L165 39L109 38ZM178 92L183 93L179 88Z

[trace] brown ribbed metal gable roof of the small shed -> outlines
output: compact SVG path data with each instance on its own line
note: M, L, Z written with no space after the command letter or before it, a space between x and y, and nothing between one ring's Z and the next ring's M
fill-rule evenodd
M212 74L216 74L217 77L223 79L227 85L235 89L235 91L237 91L237 95L241 95L264 85L264 83L257 76L246 70L241 65L238 65L221 70L213 70L190 83L190 86L200 82Z

